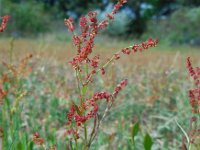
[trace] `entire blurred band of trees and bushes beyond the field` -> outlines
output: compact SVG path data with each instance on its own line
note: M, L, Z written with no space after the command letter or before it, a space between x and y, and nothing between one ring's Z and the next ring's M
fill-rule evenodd
M96 10L103 18L117 0L0 0L0 15L12 16L7 33L38 36L66 30L63 19L76 21ZM146 39L157 37L170 45L200 45L200 0L129 0L103 34Z

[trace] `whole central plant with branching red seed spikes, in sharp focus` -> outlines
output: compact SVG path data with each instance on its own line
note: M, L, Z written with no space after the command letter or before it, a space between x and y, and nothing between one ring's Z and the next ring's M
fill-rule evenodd
M99 126L107 115L107 112L112 107L114 100L116 99L118 93L127 85L127 79L122 80L114 89L113 92L96 92L93 94L92 98L86 97L86 92L89 84L93 81L93 77L101 72L102 75L105 74L106 67L113 61L120 58L122 54L130 55L131 53L136 53L138 51L146 50L150 47L155 47L158 40L153 40L149 38L146 42L141 44L134 44L129 47L125 47L111 56L105 63L100 65L100 55L91 56L94 48L94 39L98 33L105 29L109 22L114 19L114 15L119 10L119 8L126 3L126 0L119 0L111 13L106 15L106 19L102 21L97 20L96 12L89 12L86 16L82 16L79 20L80 34L75 33L75 22L73 18L65 19L65 25L68 30L73 34L72 41L73 45L77 50L77 54L73 57L69 64L74 68L76 72L76 79L79 91L80 103L75 104L72 102L70 110L67 114L67 133L72 135L75 142L77 139L81 138L80 131L83 129L84 135L82 137L84 141L85 148L89 149L92 141L97 135ZM107 102L107 107L99 118L98 115L98 101L105 99ZM93 127L90 135L88 136L88 131L86 127L86 122L89 119L94 119Z

